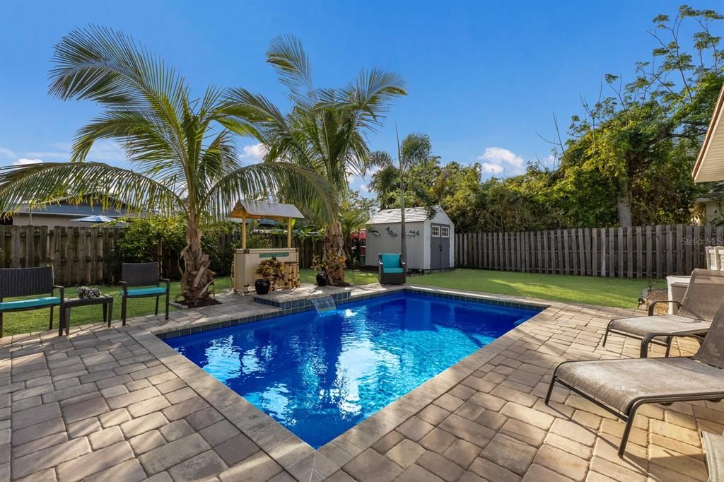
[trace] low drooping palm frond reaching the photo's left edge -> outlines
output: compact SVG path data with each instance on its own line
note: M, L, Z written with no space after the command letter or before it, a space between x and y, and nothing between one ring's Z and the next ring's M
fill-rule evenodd
M0 168L0 212L42 206L61 198L80 202L91 195L109 206L123 203L135 213L170 216L184 211L180 197L150 177L98 162L43 163Z

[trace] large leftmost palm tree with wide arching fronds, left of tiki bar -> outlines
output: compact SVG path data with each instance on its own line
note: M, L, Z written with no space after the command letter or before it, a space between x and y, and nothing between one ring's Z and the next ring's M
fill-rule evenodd
M70 162L1 169L0 212L70 194L151 216L184 216L182 295L188 300L205 296L214 278L201 247L203 226L224 219L239 198L267 197L283 187L316 216L337 212L329 183L311 169L283 162L242 166L234 140L248 135L248 126L226 114L222 90L207 88L193 100L185 78L132 38L107 28L72 30L51 62L51 95L95 101L104 111L77 132ZM98 139L121 141L132 169L85 161Z

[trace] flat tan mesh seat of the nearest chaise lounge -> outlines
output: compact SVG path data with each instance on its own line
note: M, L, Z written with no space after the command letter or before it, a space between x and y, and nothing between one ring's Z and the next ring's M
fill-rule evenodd
M639 397L724 394L723 370L683 357L564 363L556 376L624 414Z

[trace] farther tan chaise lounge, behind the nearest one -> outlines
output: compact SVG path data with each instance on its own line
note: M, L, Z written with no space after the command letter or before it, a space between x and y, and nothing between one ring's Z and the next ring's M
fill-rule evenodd
M649 306L649 316L610 321L603 337L603 346L606 346L608 334L615 333L641 339L641 358L647 357L649 343L665 346L665 356L669 356L674 337L694 337L699 342L704 339L723 299L724 271L695 269L681 303L673 300L654 301ZM679 308L678 313L654 316L654 308L658 303L675 303ZM661 337L665 341L660 340Z

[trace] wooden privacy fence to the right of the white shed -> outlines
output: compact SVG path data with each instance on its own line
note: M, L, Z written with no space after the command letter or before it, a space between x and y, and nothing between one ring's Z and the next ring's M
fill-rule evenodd
M724 245L720 226L637 226L455 234L455 266L618 278L688 275Z

